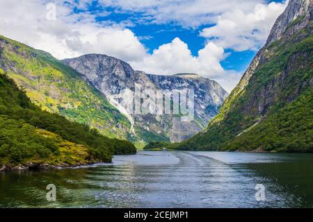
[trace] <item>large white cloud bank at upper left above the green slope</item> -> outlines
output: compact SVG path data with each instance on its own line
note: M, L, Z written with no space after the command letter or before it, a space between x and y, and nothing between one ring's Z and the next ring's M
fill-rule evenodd
M83 8L85 5L75 6ZM0 0L0 33L48 51L58 59L104 53L132 61L146 55L145 47L129 29L118 25L101 26L95 22L95 15L74 14L71 7L58 4L56 20L50 21L42 1Z

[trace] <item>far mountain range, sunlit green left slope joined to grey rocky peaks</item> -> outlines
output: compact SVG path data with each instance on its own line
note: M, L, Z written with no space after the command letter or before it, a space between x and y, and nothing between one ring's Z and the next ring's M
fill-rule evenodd
M45 51L1 35L0 69L42 110L95 128L107 137L128 139L138 146L151 141L188 139L203 130L227 96L218 83L196 74L154 76L134 71L126 62L104 55L61 62ZM182 122L180 114L129 113L127 96L135 85L155 90L194 89L194 121Z

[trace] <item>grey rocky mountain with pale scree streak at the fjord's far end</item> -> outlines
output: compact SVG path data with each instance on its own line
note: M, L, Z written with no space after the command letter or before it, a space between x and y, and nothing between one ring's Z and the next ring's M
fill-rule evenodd
M156 76L135 71L129 64L116 58L90 54L63 60L109 99L115 108L125 114L131 122L134 137L142 143L153 141L179 142L203 130L218 113L227 92L213 80L196 74ZM182 121L179 114L136 114L132 99L135 86L161 90L193 89L195 94L195 118Z

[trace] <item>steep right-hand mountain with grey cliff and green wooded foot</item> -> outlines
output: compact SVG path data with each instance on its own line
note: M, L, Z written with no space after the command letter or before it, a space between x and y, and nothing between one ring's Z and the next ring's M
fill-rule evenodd
M219 114L184 150L313 151L312 0L290 0Z

